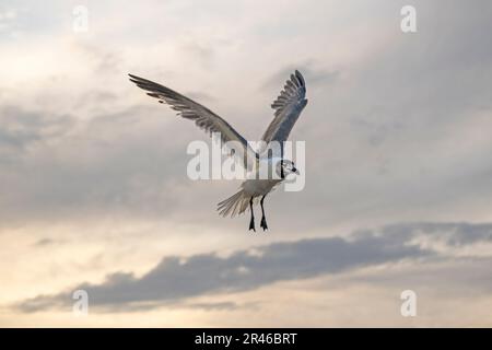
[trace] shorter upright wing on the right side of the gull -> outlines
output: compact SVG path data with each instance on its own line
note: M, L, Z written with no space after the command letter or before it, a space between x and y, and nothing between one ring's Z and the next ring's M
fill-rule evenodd
M279 97L271 105L276 113L273 120L261 138L266 143L271 141L283 142L289 138L295 121L297 121L301 112L307 104L305 96L306 83L303 75L296 70L291 74Z

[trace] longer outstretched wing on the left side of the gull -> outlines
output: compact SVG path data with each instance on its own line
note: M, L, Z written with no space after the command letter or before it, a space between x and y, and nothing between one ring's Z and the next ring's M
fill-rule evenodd
M243 154L235 154L239 161L243 162L245 168L250 170L258 159L257 153L249 147L245 138L243 138L234 128L229 125L227 121L219 117L209 108L200 105L199 103L188 98L169 88L154 83L153 81L128 74L130 81L136 83L137 86L148 91L148 95L159 98L161 103L167 103L173 109L178 112L178 116L183 118L194 120L195 124L206 132L212 135L212 132L220 132L222 142L236 141L242 145L241 151Z

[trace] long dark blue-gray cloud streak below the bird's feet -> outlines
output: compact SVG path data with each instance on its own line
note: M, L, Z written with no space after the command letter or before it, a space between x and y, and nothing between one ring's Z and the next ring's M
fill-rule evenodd
M200 254L171 256L142 277L129 272L107 276L101 284L82 283L91 305L99 308L131 310L183 302L212 292L251 290L276 281L298 280L326 273L340 273L359 267L396 262L401 259L444 258L421 247L418 235L443 237L449 246L492 242L492 224L410 223L380 230L354 232L348 238L324 237L273 243L238 250L227 257ZM17 305L36 312L69 305L71 292L39 295Z

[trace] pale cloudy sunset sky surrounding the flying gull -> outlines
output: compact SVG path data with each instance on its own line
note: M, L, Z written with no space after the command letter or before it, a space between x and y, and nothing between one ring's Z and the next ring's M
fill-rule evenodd
M0 326L492 326L491 18L489 0L3 0ZM251 234L215 211L237 182L186 175L207 136L127 73L258 140L294 69L306 186Z

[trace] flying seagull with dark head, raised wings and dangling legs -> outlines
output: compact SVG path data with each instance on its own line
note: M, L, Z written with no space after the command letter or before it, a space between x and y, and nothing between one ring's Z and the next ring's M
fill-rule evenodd
M283 142L286 141L295 121L297 121L297 118L307 104L307 100L305 98L306 83L298 70L295 70L290 75L283 90L280 92L280 95L271 104L271 107L274 109L274 117L261 137L263 144L267 144L267 148L272 142L280 143L280 156L265 155L265 148L263 150L260 149L258 151L253 150L246 139L227 121L191 98L153 81L133 74L128 75L130 77L130 81L136 83L140 89L145 90L149 96L155 97L160 103L165 103L174 110L177 110L178 116L195 121L200 129L210 135L212 135L212 132L219 132L222 142L225 144L227 144L226 142L229 141L234 141L236 142L235 144L239 144L242 148L242 150L239 150L241 152L236 153L233 150L232 154L234 154L236 159L239 158L239 161L245 168L251 170L251 164L257 165L261 161L267 162L272 166L278 175L277 178L258 178L258 166L256 166L256 171L254 170L253 174L242 183L239 187L241 190L218 205L219 214L222 217L231 215L231 218L244 213L249 207L249 231L253 230L256 232L253 206L254 203L257 203L258 198L260 198L260 226L263 231L268 230L263 208L265 197L267 197L267 195L290 174L300 175L294 162L283 159Z

